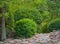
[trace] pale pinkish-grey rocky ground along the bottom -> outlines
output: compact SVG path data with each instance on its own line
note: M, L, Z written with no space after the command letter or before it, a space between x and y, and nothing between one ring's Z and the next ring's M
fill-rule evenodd
M60 30L45 34L36 34L29 39L7 39L0 44L60 44Z

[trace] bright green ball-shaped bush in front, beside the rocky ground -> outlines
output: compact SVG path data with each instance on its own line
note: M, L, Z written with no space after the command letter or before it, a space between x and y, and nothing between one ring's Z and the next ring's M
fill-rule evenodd
M33 20L21 19L16 22L15 37L32 37L36 31L36 24Z

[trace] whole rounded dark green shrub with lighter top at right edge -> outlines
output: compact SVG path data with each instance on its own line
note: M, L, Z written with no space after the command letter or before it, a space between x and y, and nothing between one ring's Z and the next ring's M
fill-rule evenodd
M48 31L51 32L53 30L59 30L60 29L60 18L53 19L48 24Z

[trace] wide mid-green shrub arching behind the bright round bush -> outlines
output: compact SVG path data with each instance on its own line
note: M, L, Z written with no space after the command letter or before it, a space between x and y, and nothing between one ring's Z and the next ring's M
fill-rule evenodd
M22 18L33 19L37 24L40 24L42 21L41 14L37 10L27 10L27 9L17 10L15 12L15 21L20 20Z

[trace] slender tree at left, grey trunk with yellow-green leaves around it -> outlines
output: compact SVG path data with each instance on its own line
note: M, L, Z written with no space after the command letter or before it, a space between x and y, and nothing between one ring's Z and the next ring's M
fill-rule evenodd
M18 1L18 0L17 0ZM0 7L1 7L1 11L0 13L2 14L2 40L5 40L6 39L6 30L5 30L5 12L8 13L7 16L10 17L10 20L11 20L11 30L14 29L14 11L17 9L17 7L19 7L17 1L15 0L1 0L0 1ZM13 7L12 7L13 6ZM5 9L5 7L7 9ZM6 11L5 11L6 10ZM9 20L7 20L9 21Z

